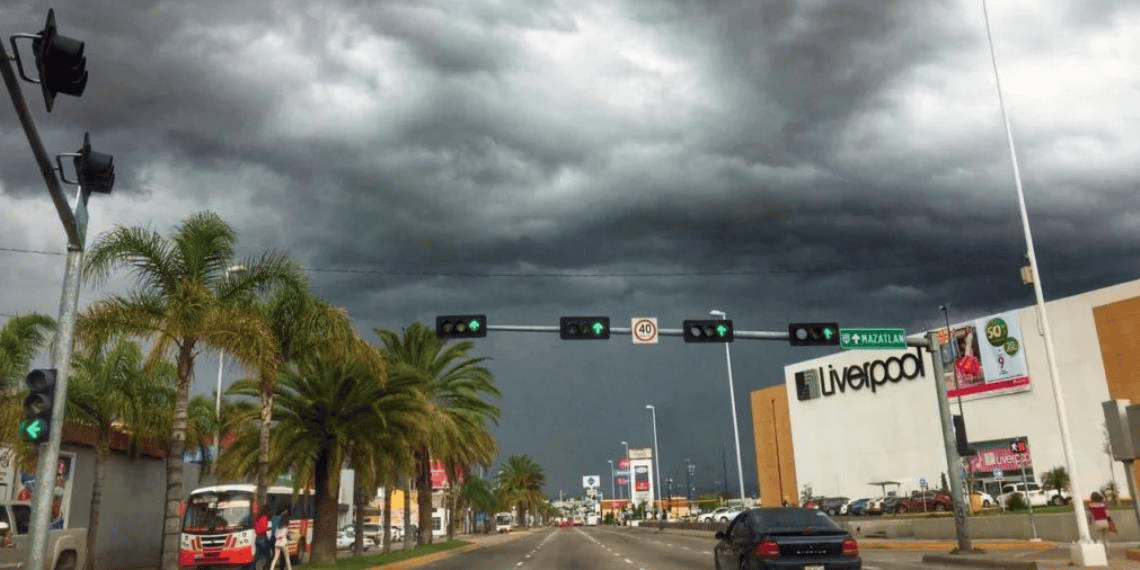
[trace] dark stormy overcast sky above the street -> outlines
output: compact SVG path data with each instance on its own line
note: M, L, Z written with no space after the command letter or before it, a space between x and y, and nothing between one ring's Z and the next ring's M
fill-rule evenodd
M90 80L50 114L24 93L49 153L90 131L115 156L92 239L218 212L241 255L300 260L374 342L450 312L912 333L943 303L1033 302L980 1L59 0L0 3L0 32L49 6ZM1137 278L1140 2L988 8L1047 298ZM0 103L0 319L57 315L65 246ZM732 345L750 495L749 392L822 353ZM665 477L691 459L719 487L725 449L735 492L720 345L492 332L477 355L500 458L534 456L549 495L652 446L646 404ZM199 358L195 392L215 381Z

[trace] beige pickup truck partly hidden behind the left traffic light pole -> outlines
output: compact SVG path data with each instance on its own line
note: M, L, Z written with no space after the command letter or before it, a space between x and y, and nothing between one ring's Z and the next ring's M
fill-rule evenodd
M32 505L0 500L0 569L23 568L31 537ZM87 562L87 529L48 531L42 570L75 570Z

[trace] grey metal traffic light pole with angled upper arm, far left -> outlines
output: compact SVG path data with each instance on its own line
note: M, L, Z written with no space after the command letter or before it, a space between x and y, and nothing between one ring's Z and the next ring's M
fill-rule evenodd
M13 72L11 60L8 52L0 42L0 75L3 76L8 95L11 96L13 106L16 107L16 115L24 127L27 142L35 155L35 162L40 166L43 180L48 185L48 193L56 204L59 213L59 221L64 225L67 234L67 266L64 269L64 288L59 300L59 320L57 323L57 341L51 353L52 368L58 370L56 376L56 393L54 400L54 413L51 414L51 431L48 441L39 446L39 463L35 469L35 492L32 496L32 521L28 528L27 561L24 568L40 570L43 568L43 554L48 545L48 527L51 524L51 500L56 487L56 463L59 461L59 439L64 425L64 407L67 399L67 377L71 375L71 357L74 348L75 315L79 309L79 282L80 267L83 262L83 247L79 235L79 227L75 225L75 214L67 204L56 171L48 158L43 142L35 130L35 123L27 111L27 103L24 93L19 89L16 73Z

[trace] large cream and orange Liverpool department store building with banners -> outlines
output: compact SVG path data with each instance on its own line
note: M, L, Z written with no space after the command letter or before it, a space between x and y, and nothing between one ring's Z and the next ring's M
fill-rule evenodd
M1123 464L1106 453L1101 402L1140 402L1140 280L1050 301L1047 311L1076 482L1088 495L1115 478L1127 495ZM939 332L951 412L961 406L978 450L968 478L995 496L1001 481L1040 483L1067 465L1037 312L1031 306ZM762 503L796 500L805 488L856 498L909 495L923 479L940 487L948 473L933 364L926 349L845 350L785 366L782 384L754 391ZM1027 454L1010 451L1018 438Z

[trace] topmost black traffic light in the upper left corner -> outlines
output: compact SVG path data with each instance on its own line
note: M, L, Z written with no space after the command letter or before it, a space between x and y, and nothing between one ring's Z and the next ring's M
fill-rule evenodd
M40 72L40 78L32 79L24 73L18 50L16 67L19 68L19 75L24 81L40 84L43 103L48 106L49 113L56 95L65 93L74 97L83 95L87 88L87 57L83 55L83 42L59 35L56 31L55 10L48 10L48 21L40 33L15 34L13 48L16 47L16 38L32 40L32 52L35 55L35 68Z

